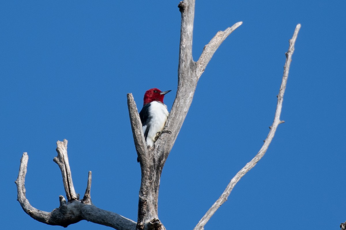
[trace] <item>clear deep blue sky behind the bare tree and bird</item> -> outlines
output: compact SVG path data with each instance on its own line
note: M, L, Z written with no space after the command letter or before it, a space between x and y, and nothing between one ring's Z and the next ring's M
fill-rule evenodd
M53 162L69 141L76 192L137 219L140 168L126 93L177 87L179 1L2 1L1 229L62 229L31 219L14 181L28 152L27 198L44 211L64 195ZM338 229L346 221L345 1L206 1L195 8L193 57L219 30L243 25L203 73L164 167L159 218L192 229L261 148L285 52L301 23L280 124L263 159L206 229ZM110 229L81 221L68 229Z

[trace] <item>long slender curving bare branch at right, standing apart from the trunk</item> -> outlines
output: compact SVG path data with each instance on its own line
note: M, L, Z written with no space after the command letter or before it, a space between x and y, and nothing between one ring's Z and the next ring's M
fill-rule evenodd
M288 72L290 69L290 63L292 61L292 54L294 51L294 43L295 40L297 39L298 36L298 31L300 29L300 24L297 25L297 27L294 30L294 34L292 39L290 39L290 46L289 49L286 53L286 62L285 62L285 67L284 67L284 72L283 72L283 77L282 77L282 82L279 90L279 94L277 96L277 105L276 105L276 111L275 111L275 116L274 116L274 121L272 126L270 127L270 131L268 133L267 138L264 141L264 144L260 151L256 154L256 156L248 162L244 168L242 168L236 175L235 177L229 182L227 185L225 191L221 194L220 198L211 206L211 208L207 211L207 213L202 217L202 219L198 222L194 230L203 230L204 225L210 220L212 215L216 212L216 210L227 200L229 194L231 193L232 189L236 185L236 183L253 167L255 167L256 163L261 160L261 158L264 156L265 152L267 151L269 144L271 143L276 128L279 126L279 124L283 123L284 121L280 120L280 114L281 114L281 109L282 109L282 102L283 102L283 95L286 89L286 84L287 84L287 78L288 78Z

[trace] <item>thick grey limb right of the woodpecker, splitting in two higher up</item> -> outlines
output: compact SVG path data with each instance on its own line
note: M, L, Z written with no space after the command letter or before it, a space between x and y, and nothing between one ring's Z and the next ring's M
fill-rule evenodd
M199 60L194 62L192 58L194 5L194 0L185 0L178 6L181 12L178 88L170 116L166 122L167 130L170 130L172 134L165 134L155 142L155 152L163 159L162 167L191 106L201 74L220 44L242 24L242 22L238 22L225 31L219 31L204 47Z

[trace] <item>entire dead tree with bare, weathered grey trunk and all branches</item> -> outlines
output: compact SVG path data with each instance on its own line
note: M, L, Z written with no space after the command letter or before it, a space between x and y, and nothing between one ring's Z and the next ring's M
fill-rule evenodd
M208 62L220 44L229 36L231 32L242 24L242 22L237 22L232 27L227 28L225 31L219 31L204 47L198 61L193 61L192 31L194 0L182 1L179 3L178 7L181 12L178 88L170 116L164 128L169 130L170 133L163 133L155 142L155 146L152 148L148 149L145 144L142 124L139 119L135 101L131 93L127 94L131 128L141 168L141 185L139 190L137 221L127 219L117 213L99 209L92 204L90 197L91 172L89 172L84 197L82 199L79 198L79 195L75 192L73 187L71 169L67 157L67 140L57 142L56 151L58 156L54 158L54 162L58 164L62 173L67 202L63 196L60 196L60 206L51 212L45 212L34 208L26 199L24 181L28 162L27 153L25 152L21 158L19 174L16 180L18 201L23 210L30 217L46 224L59 225L63 227L67 227L70 224L79 222L81 220L87 220L118 230L165 229L158 218L157 212L158 190L163 166L190 108L197 82L201 77L201 74L204 72ZM294 51L294 43L297 39L299 29L300 24L297 25L293 37L289 41L290 44L288 52L286 52L286 63L284 66L282 83L279 94L277 95L277 106L274 121L270 126L270 131L262 148L256 154L256 156L250 162L248 162L244 168L241 169L230 181L226 190L202 217L194 230L204 229L204 225L208 222L211 216L221 206L221 204L227 200L227 197L234 188L235 184L264 156L270 142L274 137L277 126L284 122L280 120L282 100L288 78L291 57Z

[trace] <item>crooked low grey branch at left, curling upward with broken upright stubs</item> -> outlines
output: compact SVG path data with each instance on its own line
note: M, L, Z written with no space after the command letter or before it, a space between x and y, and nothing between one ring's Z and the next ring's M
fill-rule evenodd
M58 141L58 154L64 153L64 166L61 167L61 170L66 170L66 167L69 165L68 158L67 158L67 141L64 140L64 142ZM59 157L58 157L59 158ZM60 159L57 159L59 163ZM85 202L81 202L78 199L73 199L70 202L66 202L65 198L63 196L59 196L59 208L54 209L51 212L45 212L38 210L31 206L28 199L26 198L25 194L25 176L27 172L27 165L28 165L28 154L25 152L23 153L23 156L20 159L20 167L19 167L19 173L18 178L15 181L17 184L17 200L19 201L22 209L33 219L49 224L49 225L58 225L67 227L70 224L77 223L81 220L87 220L93 223L101 224L104 226L109 226L114 229L118 230L135 230L136 229L136 222L127 219L123 216L120 216L117 213L102 210L94 206L91 202L90 198L90 187L91 187L91 172L89 172L89 178L88 178L88 185L85 192L85 197L87 199L83 199ZM67 170L68 171L68 170ZM71 171L69 173L71 176ZM70 177L69 176L69 177ZM72 182L72 177L70 178ZM69 179L67 179L69 180ZM65 181L64 180L64 183ZM71 191L71 190L69 190Z

